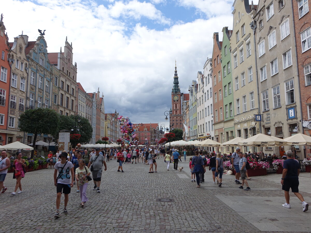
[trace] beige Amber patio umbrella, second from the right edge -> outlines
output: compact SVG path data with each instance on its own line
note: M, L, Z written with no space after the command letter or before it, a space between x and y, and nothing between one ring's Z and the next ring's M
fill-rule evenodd
M238 144L240 146L281 146L285 145L286 141L274 136L256 134L248 139L240 141Z

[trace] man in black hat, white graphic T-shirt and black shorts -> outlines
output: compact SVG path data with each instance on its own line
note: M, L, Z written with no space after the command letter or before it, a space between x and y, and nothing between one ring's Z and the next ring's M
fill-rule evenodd
M73 187L73 164L68 160L68 154L66 152L62 152L59 156L61 161L58 161L54 165L54 185L56 186L56 214L54 218L59 218L59 206L60 206L60 198L62 196L62 192L65 196L64 199L64 210L63 214L67 214L67 203L69 199L70 190ZM58 175L57 175L58 172Z

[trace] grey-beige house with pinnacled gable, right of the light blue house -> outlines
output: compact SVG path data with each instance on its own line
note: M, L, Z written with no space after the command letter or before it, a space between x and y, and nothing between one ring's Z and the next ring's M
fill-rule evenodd
M61 48L59 53L49 53L48 58L53 68L56 68L53 72L53 85L58 87L58 94L53 93L53 104L58 105L59 114L74 115L77 105L77 63L72 64L72 43L67 41L67 37L64 52Z

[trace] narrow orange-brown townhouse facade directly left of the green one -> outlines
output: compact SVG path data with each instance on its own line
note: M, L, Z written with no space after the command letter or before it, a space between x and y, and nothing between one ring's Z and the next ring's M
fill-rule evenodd
M216 142L223 143L224 136L224 115L223 115L223 91L222 91L222 72L221 72L221 46L218 32L213 35L213 55L212 55L212 75L213 75L213 102L214 102L214 138ZM220 151L220 150L219 150Z

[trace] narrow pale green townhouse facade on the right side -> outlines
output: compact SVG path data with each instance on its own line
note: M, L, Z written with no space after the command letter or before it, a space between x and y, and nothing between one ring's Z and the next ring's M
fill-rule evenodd
M222 88L224 102L224 142L235 138L234 132L234 98L232 92L232 72L231 72L231 53L230 38L232 30L228 27L222 29L222 48L221 48L221 66L222 66ZM232 148L224 148L226 152L232 151Z

